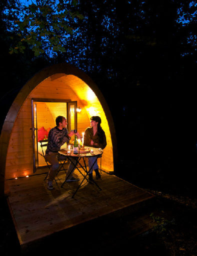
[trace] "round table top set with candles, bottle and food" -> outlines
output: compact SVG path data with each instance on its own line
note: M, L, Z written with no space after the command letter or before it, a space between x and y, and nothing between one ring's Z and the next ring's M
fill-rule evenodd
M91 156L98 156L98 155L101 155L103 153L103 150L101 148L97 148L97 147L91 147L91 146L84 146L84 150L93 150L93 153L91 152L88 152L88 153L82 153L82 149L81 149L81 153L80 153L80 150L79 150L79 153L80 154L74 154L73 152L70 152L70 154L67 154L67 150L68 148L66 149L60 149L58 152L60 154L63 154L63 155L66 155L66 156L72 156L72 157L91 157Z

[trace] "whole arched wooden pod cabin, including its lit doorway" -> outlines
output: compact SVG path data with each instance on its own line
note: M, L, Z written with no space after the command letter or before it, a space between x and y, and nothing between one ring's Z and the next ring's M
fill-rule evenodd
M89 126L89 118L99 115L107 139L101 166L114 171L115 129L101 91L78 68L55 64L26 82L6 115L0 134L0 194L4 193L6 180L38 173L44 164L39 136L43 136L41 131L47 132L55 126L57 115L66 116L68 130L75 128L80 134Z

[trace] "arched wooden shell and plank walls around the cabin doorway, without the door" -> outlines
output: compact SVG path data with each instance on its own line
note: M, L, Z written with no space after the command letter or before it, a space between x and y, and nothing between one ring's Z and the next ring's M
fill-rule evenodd
M102 167L110 171L115 170L117 160L115 128L101 91L92 79L78 68L67 63L55 64L42 69L27 81L6 115L0 134L1 195L4 194L4 183L7 179L33 174L32 99L77 101L77 105L82 109L77 115L77 129L80 134L89 126L89 117L99 115L107 139ZM49 108L47 104L44 107ZM43 110L43 113L45 111ZM50 110L51 115L59 115L60 110L57 112ZM52 128L49 117L45 118L46 123L47 121L47 125Z

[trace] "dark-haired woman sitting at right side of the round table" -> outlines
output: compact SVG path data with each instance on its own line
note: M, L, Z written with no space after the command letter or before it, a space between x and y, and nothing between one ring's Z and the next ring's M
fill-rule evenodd
M90 118L90 127L85 129L84 132L84 145L92 146L104 149L106 146L106 136L103 129L100 127L101 119L99 116L91 116ZM88 166L89 169L94 163L96 156L88 157ZM92 171L96 173L96 179L100 179L100 173L98 171L97 160L93 164L90 172L89 172L89 181L93 181Z

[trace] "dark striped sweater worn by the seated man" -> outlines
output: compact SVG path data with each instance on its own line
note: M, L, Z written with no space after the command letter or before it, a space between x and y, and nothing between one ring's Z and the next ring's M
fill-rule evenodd
M46 148L46 153L58 152L60 147L65 143L69 142L70 137L67 135L67 128L60 130L57 126L53 127L48 132L48 145Z

